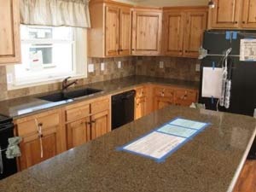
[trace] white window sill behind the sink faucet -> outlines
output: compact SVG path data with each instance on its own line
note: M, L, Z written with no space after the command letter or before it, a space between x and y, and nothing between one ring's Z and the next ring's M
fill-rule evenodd
M24 88L29 88L29 87L34 87L34 86L39 86L39 85L45 85L45 84L56 84L62 82L63 79L71 77L70 80L72 79L85 79L87 76L85 74L76 74L76 75L65 75L65 76L60 76L60 77L55 77L47 80L40 80L40 79L33 79L33 80L26 80L26 81L19 81L19 83L15 84L8 84L8 90L19 90L19 89L24 89Z

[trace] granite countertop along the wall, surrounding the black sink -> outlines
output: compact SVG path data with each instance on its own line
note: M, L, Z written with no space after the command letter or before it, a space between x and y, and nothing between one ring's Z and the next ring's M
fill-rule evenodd
M55 92L47 92L44 94L34 95L34 96L24 96L17 99L11 99L7 101L0 102L0 114L12 117L14 119L20 118L22 116L38 113L43 110L47 110L49 108L58 108L63 105L67 105L73 102L80 102L83 100L88 100L92 98L96 98L98 96L106 96L108 94L112 94L114 92L132 89L139 84L166 84L177 87L189 88L189 89L199 89L199 82L191 82L191 81L183 81L177 79L161 79L161 78L152 78L146 76L131 76L122 79L113 79L108 81L102 81L94 84L86 84L81 87L75 88L83 89L83 88L94 88L102 90L102 92L96 93L91 96L84 96L73 100L67 100L62 102L47 102L41 99L38 99L39 96L49 95ZM69 89L74 90L74 89Z

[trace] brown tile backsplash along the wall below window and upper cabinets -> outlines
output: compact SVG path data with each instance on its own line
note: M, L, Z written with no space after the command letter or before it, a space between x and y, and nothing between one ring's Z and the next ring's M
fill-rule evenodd
M121 61L120 68L119 61ZM160 68L160 61L164 62L163 68ZM199 73L195 72L196 62L196 59L162 56L88 58L88 64L94 64L94 72L88 73L86 79L79 79L77 86L132 75L199 81ZM101 70L101 63L104 63L104 71ZM54 83L8 90L6 68L0 67L0 101L60 89L61 83Z

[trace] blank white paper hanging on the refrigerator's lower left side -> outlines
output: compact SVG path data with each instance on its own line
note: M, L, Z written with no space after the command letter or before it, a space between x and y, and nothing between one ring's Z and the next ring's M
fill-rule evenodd
M203 67L202 97L221 97L222 68Z

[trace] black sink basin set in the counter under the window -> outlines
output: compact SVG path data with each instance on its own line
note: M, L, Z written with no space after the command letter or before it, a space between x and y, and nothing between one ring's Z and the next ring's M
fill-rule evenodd
M102 90L96 90L96 89L91 89L91 88L86 88L83 90L73 90L70 92L57 92L54 94L50 94L48 96L41 96L38 97L38 99L42 99L48 102L61 102L61 101L65 101L65 100L69 100L69 99L74 99L74 98L78 98L81 96L90 96L91 94L100 92Z

